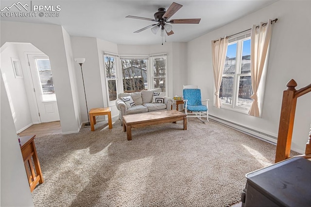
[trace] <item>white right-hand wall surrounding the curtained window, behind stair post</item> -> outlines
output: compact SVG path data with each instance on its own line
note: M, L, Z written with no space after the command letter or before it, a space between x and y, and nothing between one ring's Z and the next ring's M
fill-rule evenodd
M279 20L273 24L262 118L211 107L213 116L277 137L282 94L294 79L301 88L311 80L311 1L277 1L257 12L225 25L188 43L188 83L198 83L202 98L213 99L214 81L211 41L251 28L252 24ZM311 94L298 98L292 149L303 153L311 123Z

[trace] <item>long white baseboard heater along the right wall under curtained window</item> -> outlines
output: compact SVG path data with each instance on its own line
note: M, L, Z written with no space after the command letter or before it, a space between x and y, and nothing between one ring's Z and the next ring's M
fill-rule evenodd
M250 136L255 137L255 138L259 138L259 139L261 139L263 141L266 141L266 142L269 142L271 144L276 145L277 138L272 136L272 135L268 135L266 133L259 132L257 130L245 127L243 125L234 123L232 121L227 121L225 119L222 119L222 118L219 118L219 117L216 117L216 116L213 116L213 115L209 115L209 119L212 120L212 121L215 121L217 123L223 124L223 125L225 125L225 126L227 126L229 128L235 129L235 130L237 130L239 132L242 132L244 134L250 135Z

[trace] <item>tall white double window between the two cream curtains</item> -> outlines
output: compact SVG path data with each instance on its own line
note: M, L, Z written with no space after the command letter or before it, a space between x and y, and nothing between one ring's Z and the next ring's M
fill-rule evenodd
M245 37L248 36L248 37ZM219 98L221 106L248 112L253 99L250 35L229 39Z

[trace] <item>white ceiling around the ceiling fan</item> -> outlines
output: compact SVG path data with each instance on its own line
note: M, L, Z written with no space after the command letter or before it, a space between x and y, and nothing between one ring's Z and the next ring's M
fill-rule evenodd
M1 9L16 1L1 0ZM154 18L158 8L173 0L26 0L32 5L60 5L59 17L1 17L1 20L63 25L69 35L97 37L117 44L160 44L159 32L150 29L133 33L155 22L125 18L128 15ZM175 0L183 5L173 17L201 18L199 24L172 24L173 35L167 42L188 42L229 22L257 11L275 0ZM259 19L262 20L262 19ZM228 34L230 35L230 34Z

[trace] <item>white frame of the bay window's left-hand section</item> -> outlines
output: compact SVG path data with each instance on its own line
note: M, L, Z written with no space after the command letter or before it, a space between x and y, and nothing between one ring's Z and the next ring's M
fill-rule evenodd
M107 78L106 75L106 65L105 65L105 57L113 57L115 59L115 72L116 72L116 77L115 78ZM119 55L113 54L113 53L107 53L104 52L104 79L105 79L105 84L106 84L106 96L107 96L107 102L108 102L108 106L114 106L116 105L116 101L110 101L109 98L109 87L108 87L108 81L110 80L115 80L116 81L116 91L117 91L117 96L120 93L120 82L119 82L119 63L120 63L120 58ZM117 97L118 98L118 97Z

